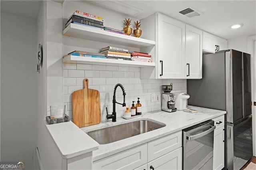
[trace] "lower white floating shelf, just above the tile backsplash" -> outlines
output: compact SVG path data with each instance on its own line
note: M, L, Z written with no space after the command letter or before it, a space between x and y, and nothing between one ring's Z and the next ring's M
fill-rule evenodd
M95 57L82 57L76 55L70 55L63 58L63 63L82 63L82 64L95 64L95 63L112 63L112 64L125 64L125 65L137 65L138 67L151 67L155 66L155 63L148 63L143 61L130 61L122 59L108 59L108 58L95 58Z

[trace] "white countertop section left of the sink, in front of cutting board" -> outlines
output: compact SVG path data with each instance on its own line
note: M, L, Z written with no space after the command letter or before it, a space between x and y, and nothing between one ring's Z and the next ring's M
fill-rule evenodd
M98 149L98 142L93 140L71 121L46 125L46 127L64 159Z

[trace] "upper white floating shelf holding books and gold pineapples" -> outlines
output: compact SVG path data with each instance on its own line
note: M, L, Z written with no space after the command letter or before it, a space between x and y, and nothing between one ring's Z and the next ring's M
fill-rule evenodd
M122 44L124 46L136 48L148 47L155 45L156 43L155 41L151 40L136 38L134 36L127 36L73 23L69 24L65 30L63 30L63 35L85 40L92 40L96 42Z

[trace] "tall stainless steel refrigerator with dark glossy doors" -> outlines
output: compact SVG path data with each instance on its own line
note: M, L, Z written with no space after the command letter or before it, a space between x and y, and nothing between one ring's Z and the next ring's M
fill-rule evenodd
M188 79L188 105L227 111L225 168L252 158L250 54L234 49L203 55L202 79Z

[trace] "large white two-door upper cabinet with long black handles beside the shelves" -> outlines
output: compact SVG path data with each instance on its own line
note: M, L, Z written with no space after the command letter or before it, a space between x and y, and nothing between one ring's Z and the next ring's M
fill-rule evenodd
M147 27L143 30L143 38L156 41L156 66L155 69L140 69L140 78L202 78L202 30L160 13L141 22L142 25L156 24L155 29ZM152 35L155 37L152 38Z

